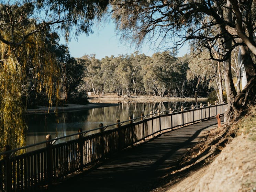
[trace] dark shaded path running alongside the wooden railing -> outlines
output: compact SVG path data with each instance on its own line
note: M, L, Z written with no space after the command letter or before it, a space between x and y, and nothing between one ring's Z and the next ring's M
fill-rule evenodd
M216 119L176 129L121 151L97 169L81 173L58 184L51 191L131 192L148 191L154 183L177 165L186 149L195 145Z

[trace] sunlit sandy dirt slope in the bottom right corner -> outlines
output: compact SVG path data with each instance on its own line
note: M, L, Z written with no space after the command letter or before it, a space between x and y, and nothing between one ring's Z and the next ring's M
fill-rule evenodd
M255 192L256 191L256 112L255 109L233 126L235 138L229 137L221 153L211 163L202 163L176 184L165 185L168 192ZM214 146L212 146L214 148ZM204 160L205 161L205 160ZM207 162L207 161L205 161ZM207 164L207 165L205 165Z

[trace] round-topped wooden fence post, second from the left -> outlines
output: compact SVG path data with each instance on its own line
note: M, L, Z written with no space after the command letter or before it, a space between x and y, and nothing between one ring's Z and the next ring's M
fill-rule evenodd
M50 134L46 135L46 140L51 140L52 136ZM51 142L46 143L46 157L47 157L47 179L48 187L53 184L53 146Z

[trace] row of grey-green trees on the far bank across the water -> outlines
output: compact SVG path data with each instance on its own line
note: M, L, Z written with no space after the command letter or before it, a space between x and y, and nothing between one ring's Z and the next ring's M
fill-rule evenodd
M138 54L95 58L94 54L77 58L84 67L84 89L96 95L158 95L160 97L193 97L197 91L207 97L213 90L210 79L200 81L191 75L189 55L174 57L169 51L152 56Z

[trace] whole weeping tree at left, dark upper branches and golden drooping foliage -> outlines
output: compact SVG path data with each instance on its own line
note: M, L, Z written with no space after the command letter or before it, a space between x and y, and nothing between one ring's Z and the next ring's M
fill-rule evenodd
M93 20L108 1L0 1L0 150L24 146L23 90L33 83L45 91L49 105L58 98L60 72L51 51L51 35L70 31L89 34ZM48 42L48 43L46 43ZM27 82L27 76L32 82Z

